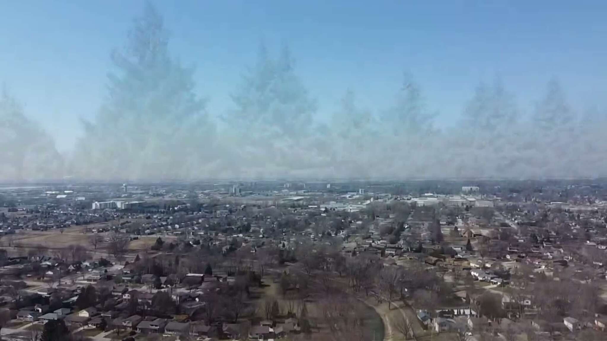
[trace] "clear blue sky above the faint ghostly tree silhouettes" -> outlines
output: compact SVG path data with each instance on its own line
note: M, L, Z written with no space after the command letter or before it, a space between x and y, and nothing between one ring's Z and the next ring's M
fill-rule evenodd
M454 124L480 81L496 76L529 113L557 77L580 112L605 108L605 1L152 1L171 53L195 65L211 115L260 41L290 46L319 102L319 120L349 87L385 109L403 72L424 89L438 125ZM0 82L69 152L103 100L110 51L121 47L143 1L0 0Z

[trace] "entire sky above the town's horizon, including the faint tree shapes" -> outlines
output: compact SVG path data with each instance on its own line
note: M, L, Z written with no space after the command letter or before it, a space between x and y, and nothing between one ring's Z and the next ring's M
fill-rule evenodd
M4 2L0 182L607 176L602 2Z

